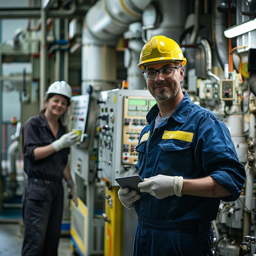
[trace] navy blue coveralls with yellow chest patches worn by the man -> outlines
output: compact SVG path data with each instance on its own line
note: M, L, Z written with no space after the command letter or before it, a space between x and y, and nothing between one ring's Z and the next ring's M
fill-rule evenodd
M139 153L138 174L142 179L158 174L182 176L184 179L210 175L231 195L224 198L173 195L159 200L143 193L135 202L138 223L133 255L136 256L207 256L198 251L198 246L207 243L205 246L209 248L210 223L216 219L220 200L229 202L238 199L245 182L245 168L239 162L227 126L209 109L192 103L187 92L183 93L184 98L173 115L155 130L159 108L155 105L148 112L148 125L141 131L136 146ZM174 234L169 231L186 233L189 227L193 229L193 225L196 233L199 225L207 238L196 236L196 242L191 238L184 238L186 242L181 238L173 240ZM179 248L175 249L176 252L168 252L170 241L177 243ZM166 249L161 251L163 247Z

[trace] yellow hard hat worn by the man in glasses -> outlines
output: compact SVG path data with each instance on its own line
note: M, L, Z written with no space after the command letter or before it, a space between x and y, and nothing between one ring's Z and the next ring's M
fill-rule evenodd
M138 67L144 69L152 62L174 61L186 65L180 46L166 36L153 36L141 49Z

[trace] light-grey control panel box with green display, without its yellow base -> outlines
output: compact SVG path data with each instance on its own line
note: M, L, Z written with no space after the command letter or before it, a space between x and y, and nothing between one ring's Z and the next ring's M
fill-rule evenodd
M137 152L146 115L156 103L148 90L108 90L99 99L98 175L118 186L116 177L137 173Z

